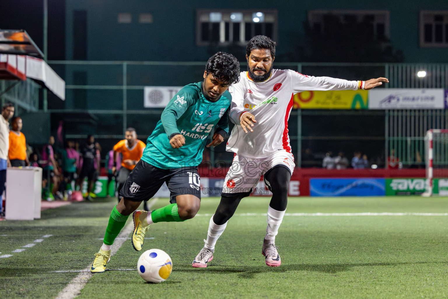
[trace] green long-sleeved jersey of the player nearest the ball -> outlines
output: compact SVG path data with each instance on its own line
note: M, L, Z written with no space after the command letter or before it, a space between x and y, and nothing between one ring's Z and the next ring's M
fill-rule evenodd
M202 82L186 85L169 101L148 137L143 161L162 169L198 166L207 136L211 132L227 136L232 95L225 91L212 102L204 97L201 85ZM171 147L169 138L174 134L184 135L184 146Z

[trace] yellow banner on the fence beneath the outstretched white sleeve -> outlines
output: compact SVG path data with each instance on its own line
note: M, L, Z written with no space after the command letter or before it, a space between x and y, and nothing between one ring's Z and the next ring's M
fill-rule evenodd
M302 91L294 95L293 108L367 109L369 91Z

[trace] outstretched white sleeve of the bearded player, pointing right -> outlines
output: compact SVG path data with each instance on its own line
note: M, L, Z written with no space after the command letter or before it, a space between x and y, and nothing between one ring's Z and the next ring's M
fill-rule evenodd
M358 90L358 81L348 81L331 77L314 77L288 70L291 74L293 93L302 91Z

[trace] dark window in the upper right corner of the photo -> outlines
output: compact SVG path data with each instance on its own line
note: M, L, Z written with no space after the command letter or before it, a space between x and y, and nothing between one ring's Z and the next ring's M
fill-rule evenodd
M420 47L448 47L448 11L420 12Z

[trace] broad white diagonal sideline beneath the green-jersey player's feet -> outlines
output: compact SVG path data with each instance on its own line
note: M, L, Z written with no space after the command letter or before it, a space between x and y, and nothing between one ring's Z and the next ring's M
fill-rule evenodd
M151 208L157 202L157 198L152 199L150 203L148 203L148 208ZM127 236L134 230L134 222L130 221L128 225L126 225L118 234L116 238L116 242L114 242L111 249L111 257L116 254L116 252L120 249L121 245L125 243L127 240ZM47 236L47 235L45 235ZM45 236L43 236L45 238ZM51 235L48 235L51 236ZM56 299L73 299L81 293L81 290L86 286L86 283L89 281L90 277L93 276L93 273L90 272L90 264L86 269L80 271L79 275L72 279L72 281L65 286L64 290L61 290L57 295Z

